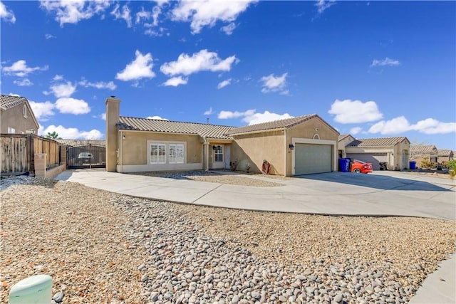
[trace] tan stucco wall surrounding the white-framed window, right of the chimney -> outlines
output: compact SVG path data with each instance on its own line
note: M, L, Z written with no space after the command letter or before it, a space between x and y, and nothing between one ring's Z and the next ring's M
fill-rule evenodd
M125 135L125 139L123 138ZM202 142L197 135L174 135L152 132L120 132L121 156L119 164L147 164L147 142L185 142L185 163L202 163Z

